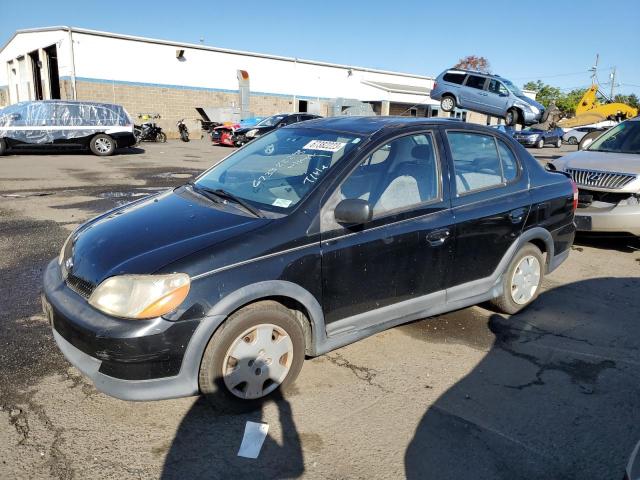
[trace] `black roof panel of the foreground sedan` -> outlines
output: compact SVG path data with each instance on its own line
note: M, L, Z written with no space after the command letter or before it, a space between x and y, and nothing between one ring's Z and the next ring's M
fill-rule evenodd
M333 130L344 133L353 133L356 135L373 135L383 128L402 128L414 125L447 125L456 128L471 129L487 129L481 125L469 124L460 120L451 118L427 118L427 117L356 117L356 116L339 116L327 118L315 118L304 122L304 126L297 124L289 125L285 128L318 128L322 130ZM480 127L480 128L478 128ZM488 130L488 129L487 129Z

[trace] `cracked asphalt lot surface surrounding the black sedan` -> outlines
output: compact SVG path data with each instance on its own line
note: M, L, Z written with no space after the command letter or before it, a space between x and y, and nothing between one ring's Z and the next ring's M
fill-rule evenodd
M53 342L43 267L78 223L229 152L0 158L0 478L622 478L640 440L637 239L579 237L517 316L472 307L308 360L260 412L97 392ZM237 456L248 420L269 424L256 460Z

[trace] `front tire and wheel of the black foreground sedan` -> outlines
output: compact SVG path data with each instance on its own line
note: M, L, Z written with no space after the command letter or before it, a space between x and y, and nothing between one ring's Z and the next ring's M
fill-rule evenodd
M245 357L234 357L234 351ZM280 355L278 363L273 355ZM293 312L271 300L253 303L233 313L211 337L200 364L200 392L217 409L253 410L294 382L304 355L304 331ZM254 376L259 378L252 383Z

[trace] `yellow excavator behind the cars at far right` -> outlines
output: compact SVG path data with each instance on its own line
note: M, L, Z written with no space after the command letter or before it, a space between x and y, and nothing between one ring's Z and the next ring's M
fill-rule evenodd
M602 97L607 98L606 95L600 91L598 84L594 80L591 88L585 92L576 106L575 116L563 118L556 124L562 128L574 128L603 122L605 120L621 122L638 115L638 109L626 103L600 103L600 101L598 101L598 93L600 93Z

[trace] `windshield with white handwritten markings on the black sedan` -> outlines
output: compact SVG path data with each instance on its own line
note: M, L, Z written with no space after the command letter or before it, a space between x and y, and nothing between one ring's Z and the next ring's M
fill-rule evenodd
M205 172L195 189L222 189L262 210L287 213L361 141L345 133L277 129Z

